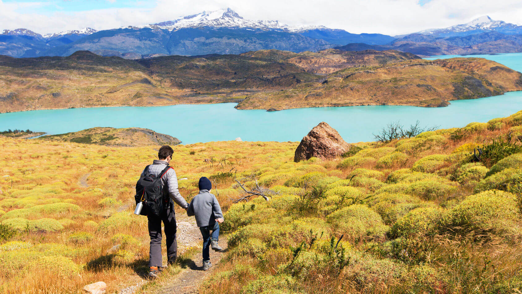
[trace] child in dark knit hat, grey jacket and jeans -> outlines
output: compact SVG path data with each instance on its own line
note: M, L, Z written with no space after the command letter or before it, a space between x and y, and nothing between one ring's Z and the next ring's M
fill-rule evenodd
M203 236L203 270L207 271L212 264L210 263L210 247L212 250L220 251L218 245L219 224L223 222L223 213L219 206L218 199L210 194L212 183L206 177L199 179L199 194L194 196L191 204L187 208L187 216L195 216L196 224Z

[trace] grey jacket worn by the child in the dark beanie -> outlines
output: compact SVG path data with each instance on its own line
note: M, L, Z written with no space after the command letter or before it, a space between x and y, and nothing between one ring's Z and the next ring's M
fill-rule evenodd
M192 198L188 205L187 216L195 216L198 227L214 224L216 218L223 218L218 199L208 190L199 190L199 194Z

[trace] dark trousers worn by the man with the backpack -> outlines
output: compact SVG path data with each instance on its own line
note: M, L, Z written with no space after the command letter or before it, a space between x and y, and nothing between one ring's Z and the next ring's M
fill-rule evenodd
M174 262L177 255L176 216L173 205L165 209L161 217L147 216L149 219L150 252L149 266L163 266L161 261L161 222L165 226L167 241L167 258L169 263Z

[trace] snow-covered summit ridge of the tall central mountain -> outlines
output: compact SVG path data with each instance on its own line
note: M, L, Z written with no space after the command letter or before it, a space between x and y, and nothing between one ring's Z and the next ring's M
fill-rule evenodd
M177 30L182 28L252 28L261 30L284 30L290 32L300 32L314 29L327 29L324 26L289 26L278 20L250 20L244 19L230 8L215 11L203 11L202 13L183 16L175 20L154 23L148 26L131 28L152 28Z

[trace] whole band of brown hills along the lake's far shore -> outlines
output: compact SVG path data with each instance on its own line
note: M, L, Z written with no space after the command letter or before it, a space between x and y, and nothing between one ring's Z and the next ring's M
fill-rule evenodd
M520 73L492 61L432 62L395 50L259 50L143 60L78 51L67 57L0 56L0 112L219 102L276 110L444 106L448 100L520 90L519 80Z

